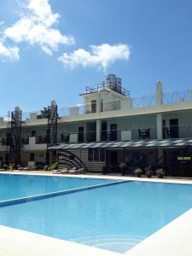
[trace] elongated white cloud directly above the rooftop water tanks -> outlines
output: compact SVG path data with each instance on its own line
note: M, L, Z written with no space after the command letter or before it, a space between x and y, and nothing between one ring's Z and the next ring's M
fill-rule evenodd
M101 44L91 45L90 51L85 49L76 49L72 53L64 53L59 57L59 61L65 67L100 67L106 69L117 60L128 60L130 57L130 48L126 44Z

